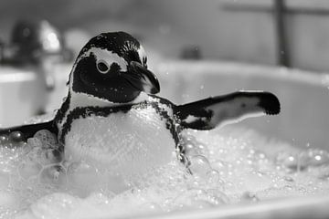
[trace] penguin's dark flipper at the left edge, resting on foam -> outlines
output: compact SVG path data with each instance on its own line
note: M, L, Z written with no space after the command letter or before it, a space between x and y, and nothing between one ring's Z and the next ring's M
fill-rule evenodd
M56 135L58 134L58 129L54 125L54 121L48 120L36 124L27 124L5 129L0 128L0 135L9 135L13 131L20 131L23 134L23 140L27 141L27 139L32 138L38 130L49 130Z

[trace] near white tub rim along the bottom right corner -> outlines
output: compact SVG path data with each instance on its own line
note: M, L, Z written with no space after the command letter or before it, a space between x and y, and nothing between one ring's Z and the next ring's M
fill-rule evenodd
M206 209L182 210L171 213L143 214L134 219L224 219L224 218L308 218L305 212L313 214L312 218L329 218L329 196L309 195L275 198L260 203L231 203ZM302 209L301 214L296 214ZM288 213L288 214L287 214ZM320 213L320 214L319 214ZM282 217L282 216L287 217ZM129 217L122 217L129 218Z

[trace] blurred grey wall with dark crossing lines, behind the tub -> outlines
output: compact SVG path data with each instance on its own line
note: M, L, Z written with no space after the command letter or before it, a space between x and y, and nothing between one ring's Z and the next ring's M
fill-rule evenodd
M159 56L279 63L276 0L2 0L0 37L19 19L47 19L80 49L90 36L127 31ZM281 19L289 66L328 71L329 2L285 0ZM280 20L280 18L279 18ZM280 21L279 21L280 23ZM80 37L77 37L80 35ZM84 37L82 37L84 36ZM193 49L199 51L193 52ZM152 60L152 58L150 58Z

